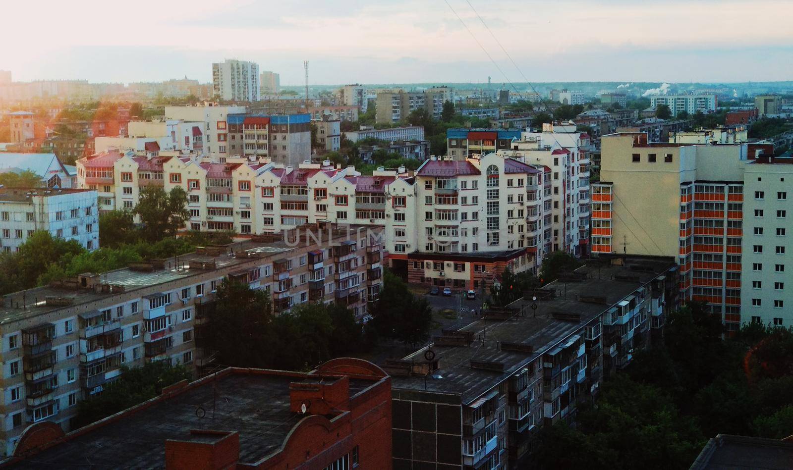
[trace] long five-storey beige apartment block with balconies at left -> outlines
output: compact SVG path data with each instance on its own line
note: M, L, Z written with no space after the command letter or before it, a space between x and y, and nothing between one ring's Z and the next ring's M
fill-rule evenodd
M121 365L208 365L208 311L225 279L270 292L275 315L335 301L365 318L382 282L381 244L365 229L316 224L286 239L208 246L4 296L3 453L13 453L30 424L47 420L71 430L77 402L101 392Z

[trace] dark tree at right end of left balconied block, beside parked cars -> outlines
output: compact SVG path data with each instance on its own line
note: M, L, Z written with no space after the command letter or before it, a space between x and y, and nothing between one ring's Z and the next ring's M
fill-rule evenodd
M374 329L385 338L415 345L427 338L432 325L432 308L423 296L415 296L408 285L389 270L383 277L380 299L372 308Z

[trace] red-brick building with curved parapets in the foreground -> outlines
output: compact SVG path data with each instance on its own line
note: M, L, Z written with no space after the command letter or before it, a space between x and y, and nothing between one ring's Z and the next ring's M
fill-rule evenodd
M251 413L261 403L266 413ZM197 429L196 409L212 414L211 430ZM37 423L6 465L70 467L87 446L109 468L391 468L391 423L390 377L368 361L335 359L311 373L228 368L79 433Z

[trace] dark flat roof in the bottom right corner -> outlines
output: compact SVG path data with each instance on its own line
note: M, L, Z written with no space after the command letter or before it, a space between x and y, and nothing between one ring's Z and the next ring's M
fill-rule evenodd
M733 470L734 468L793 468L793 442L718 434L707 441L690 470Z

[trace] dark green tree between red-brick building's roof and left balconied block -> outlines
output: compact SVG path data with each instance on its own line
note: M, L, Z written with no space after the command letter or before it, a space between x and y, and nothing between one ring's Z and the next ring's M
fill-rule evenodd
M153 361L132 369L122 366L121 376L105 384L102 393L78 402L78 427L144 403L180 380L192 379L192 373L184 365L170 365L166 361Z

